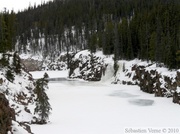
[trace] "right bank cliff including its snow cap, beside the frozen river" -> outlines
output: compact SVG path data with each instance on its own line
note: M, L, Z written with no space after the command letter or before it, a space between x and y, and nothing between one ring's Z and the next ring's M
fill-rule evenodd
M174 103L180 104L180 71L159 70L163 68L156 68L153 64L134 64L123 72L126 79L117 82L138 85L143 92L155 97L172 97Z

